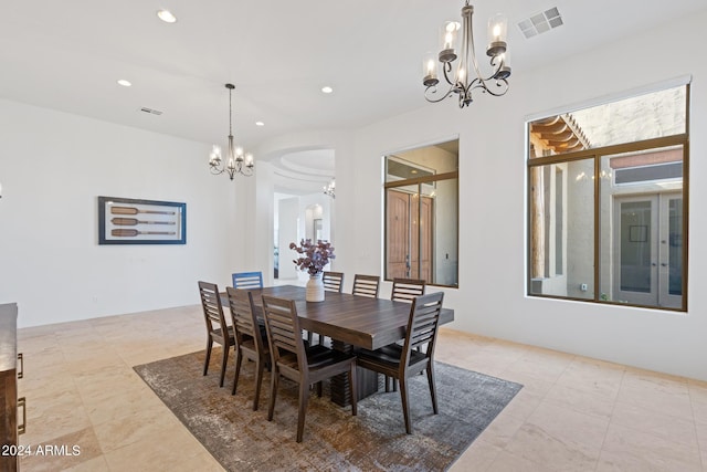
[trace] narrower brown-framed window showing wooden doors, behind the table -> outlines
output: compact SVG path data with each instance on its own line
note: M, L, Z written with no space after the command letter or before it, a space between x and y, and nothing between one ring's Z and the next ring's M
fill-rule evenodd
M458 140L386 156L386 279L458 285Z

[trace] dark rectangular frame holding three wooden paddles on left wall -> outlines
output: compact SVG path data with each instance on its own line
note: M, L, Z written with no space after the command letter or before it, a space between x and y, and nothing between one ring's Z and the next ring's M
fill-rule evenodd
M98 197L98 244L186 244L187 203Z

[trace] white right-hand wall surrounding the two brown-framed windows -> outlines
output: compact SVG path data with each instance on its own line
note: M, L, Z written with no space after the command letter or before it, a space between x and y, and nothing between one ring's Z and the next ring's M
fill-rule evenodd
M460 289L446 290L454 327L707 380L707 201L690 186L686 314L526 296L525 122L692 74L690 180L707 177L707 63L675 48L704 44L707 11L622 42L511 76L510 92L450 99L370 125L337 151L337 270L382 273L381 156L460 136ZM697 204L695 204L697 202ZM390 293L387 284L381 296Z

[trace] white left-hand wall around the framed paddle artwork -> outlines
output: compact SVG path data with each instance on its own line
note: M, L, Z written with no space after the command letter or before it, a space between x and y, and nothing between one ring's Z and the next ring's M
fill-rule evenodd
M161 118L155 118L161 119ZM19 326L199 303L243 244L208 145L0 101L0 303ZM98 245L97 197L187 203L186 245ZM271 238L272 240L272 238Z

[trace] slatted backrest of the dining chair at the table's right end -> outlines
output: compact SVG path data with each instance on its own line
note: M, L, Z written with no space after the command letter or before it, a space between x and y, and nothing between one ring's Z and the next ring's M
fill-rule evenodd
M442 311L443 300L444 292L429 293L412 300L408 331L405 333L405 344L402 350L402 366L407 367L409 365L410 353L420 346L426 345L426 349L423 349L426 358L432 360L434 357L434 346L440 328L440 312Z

